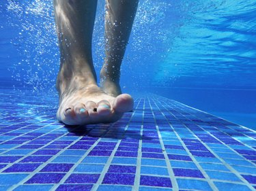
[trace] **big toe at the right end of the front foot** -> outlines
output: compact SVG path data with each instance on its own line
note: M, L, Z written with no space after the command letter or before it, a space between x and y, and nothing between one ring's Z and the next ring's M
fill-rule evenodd
M134 101L129 94L120 94L113 102L113 109L115 111L124 113L133 109Z

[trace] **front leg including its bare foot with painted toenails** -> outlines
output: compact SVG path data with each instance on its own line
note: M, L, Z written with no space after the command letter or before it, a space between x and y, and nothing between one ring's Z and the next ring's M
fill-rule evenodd
M97 1L55 0L61 65L57 119L65 124L114 122L132 109L128 94L111 97L96 84L91 37Z

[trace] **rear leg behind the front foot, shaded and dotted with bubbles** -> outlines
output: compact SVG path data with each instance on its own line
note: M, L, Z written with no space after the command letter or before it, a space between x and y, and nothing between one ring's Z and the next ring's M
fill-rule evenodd
M120 67L132 30L138 2L139 0L106 0L106 57L100 71L100 84L104 92L114 97L121 94L119 86Z

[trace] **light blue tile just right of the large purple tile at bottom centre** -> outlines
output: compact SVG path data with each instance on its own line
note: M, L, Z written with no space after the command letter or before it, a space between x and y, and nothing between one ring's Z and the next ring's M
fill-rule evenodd
M180 189L212 190L207 181L195 179L177 179L177 185Z

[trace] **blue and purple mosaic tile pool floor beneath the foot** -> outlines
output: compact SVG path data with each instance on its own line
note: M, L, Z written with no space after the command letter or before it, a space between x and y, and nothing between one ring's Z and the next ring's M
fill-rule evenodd
M256 188L248 128L153 94L114 124L63 126L33 100L0 103L0 190Z

